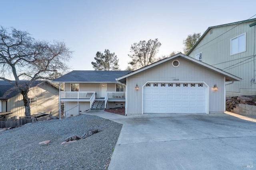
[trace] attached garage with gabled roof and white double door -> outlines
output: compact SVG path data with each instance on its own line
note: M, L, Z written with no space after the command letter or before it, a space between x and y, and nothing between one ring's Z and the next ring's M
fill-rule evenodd
M127 115L224 113L226 86L242 79L179 53L116 80L126 85Z

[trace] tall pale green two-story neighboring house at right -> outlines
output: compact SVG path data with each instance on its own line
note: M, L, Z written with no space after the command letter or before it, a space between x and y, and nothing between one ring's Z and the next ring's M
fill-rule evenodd
M188 56L242 78L226 83L227 96L256 95L256 18L208 27Z

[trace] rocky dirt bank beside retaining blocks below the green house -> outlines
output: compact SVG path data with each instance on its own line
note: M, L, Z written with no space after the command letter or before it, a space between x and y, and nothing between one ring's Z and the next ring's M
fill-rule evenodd
M233 108L239 104L256 106L256 96L236 96L232 98L226 98L226 111L233 110Z

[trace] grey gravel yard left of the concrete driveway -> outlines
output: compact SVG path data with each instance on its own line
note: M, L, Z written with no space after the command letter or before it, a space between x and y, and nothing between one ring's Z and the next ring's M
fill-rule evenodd
M88 130L99 132L67 146L61 143ZM1 170L105 170L122 124L94 115L28 123L0 132ZM48 145L39 145L50 140Z

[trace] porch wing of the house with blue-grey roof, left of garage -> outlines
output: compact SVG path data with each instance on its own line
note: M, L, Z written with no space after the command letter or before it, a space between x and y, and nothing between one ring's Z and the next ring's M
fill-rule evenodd
M76 116L88 109L125 107L126 86L116 78L131 71L73 70L53 80L64 83L60 101L65 117Z

